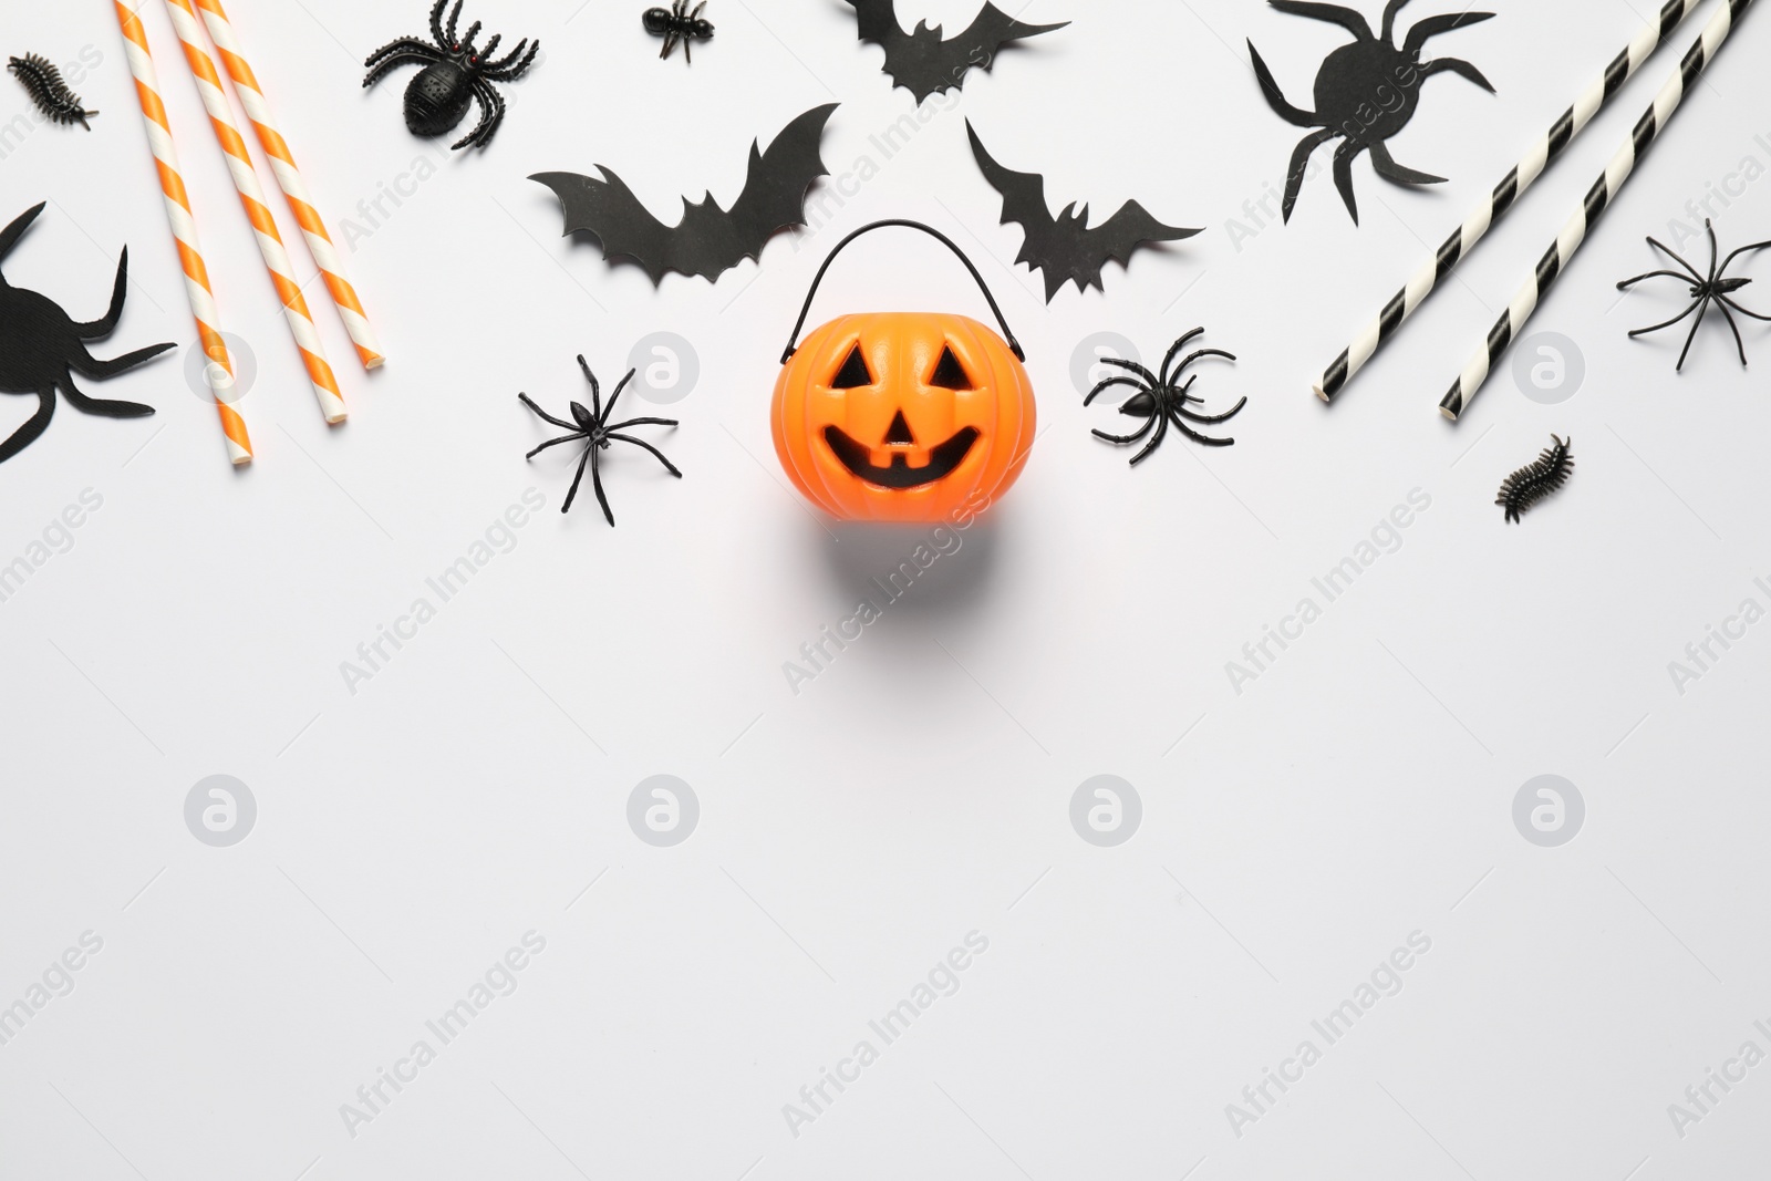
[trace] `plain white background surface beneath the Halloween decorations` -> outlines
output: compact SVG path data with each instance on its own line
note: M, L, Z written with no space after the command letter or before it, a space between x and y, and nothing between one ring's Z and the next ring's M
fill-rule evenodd
M1743 598L1771 604L1753 584L1771 581L1771 340L1746 329L1743 372L1711 322L1675 377L1679 336L1624 333L1670 315L1679 289L1619 301L1613 283L1658 266L1643 234L1690 220L1705 182L1771 166L1771 16L1743 21L1539 312L1534 331L1583 351L1580 393L1534 404L1509 368L1452 427L1435 407L1456 365L1707 7L1332 409L1311 379L1647 7L1495 0L1498 19L1431 50L1479 64L1498 96L1435 78L1396 142L1450 184L1404 191L1360 161L1355 228L1323 168L1289 227L1240 250L1226 221L1282 184L1302 135L1261 101L1243 39L1303 104L1344 39L1330 25L1252 0L1038 0L1025 19L1075 23L972 74L882 159L870 136L912 101L836 0L714 0L719 34L691 69L655 60L639 0L469 7L545 50L475 158L406 133L409 73L358 89L370 50L421 28L421 0L232 11L340 246L358 200L436 161L349 251L384 372L361 374L308 287L352 407L336 430L303 388L165 12L145 14L223 324L257 354L243 411L259 459L228 469L181 354L89 386L156 418L64 405L0 467L0 561L83 489L103 498L0 604L0 1004L83 931L104 940L0 1045L0 1176L1764 1170L1771 1066L1682 1139L1667 1107L1741 1043L1771 1050L1753 1027L1771 1025L1771 623L1682 696L1667 666ZM976 11L900 7L949 32ZM1413 7L1404 25L1436 11ZM128 244L128 312L99 354L188 342L104 5L14 5L0 48L66 62L85 44L103 55L76 87L104 112L94 131L32 131L0 168L5 218L51 200L7 278L97 315ZM607 163L662 214L682 193L730 202L751 136L831 99L825 161L873 156L878 175L717 285L653 290L611 269L558 235L554 198L524 179ZM0 104L27 110L11 83ZM1105 297L1071 289L1047 308L1008 269L1020 234L997 225L963 117L1006 165L1043 172L1057 205L1086 198L1100 218L1135 197L1208 228L1109 267ZM1728 248L1771 237L1764 181L1714 209ZM1047 432L994 517L793 696L781 664L914 544L832 538L783 490L767 427L811 271L878 216L976 251ZM1766 262L1739 271L1759 274L1748 306L1771 294ZM882 241L845 257L813 319L896 306L979 313L933 246ZM1213 405L1249 395L1238 443L1171 439L1126 471L1087 434L1118 416L1080 407L1071 351L1110 329L1160 356L1199 322L1241 356L1199 386ZM618 455L620 528L588 490L561 517L567 459L522 462L545 430L515 393L560 409L583 397L576 352L613 381L657 329L701 361L664 411L684 420L666 450L685 478ZM0 409L11 430L30 400ZM1504 526L1495 489L1550 432L1573 436L1580 471ZM526 489L547 510L351 694L340 662ZM1431 508L1401 547L1236 694L1226 662L1411 489ZM661 772L701 806L675 848L625 820ZM1562 848L1528 845L1511 816L1550 772L1587 802ZM257 799L232 848L184 825L211 774ZM1142 797L1118 848L1068 818L1096 774ZM517 992L349 1135L340 1105L530 930L547 942ZM783 1105L877 1041L868 1022L974 930L988 951L960 990L793 1137ZM1433 946L1401 993L1238 1139L1226 1105L1411 931Z

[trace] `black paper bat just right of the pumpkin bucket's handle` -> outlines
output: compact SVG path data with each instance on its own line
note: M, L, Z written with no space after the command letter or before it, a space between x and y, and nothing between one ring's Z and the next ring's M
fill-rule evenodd
M1087 205L1082 212L1071 212L1077 204L1070 202L1054 218L1045 205L1045 177L1036 172L1015 172L992 159L969 119L965 135L972 136L972 156L978 158L990 188L1002 195L1002 223L1017 221L1025 230L1015 262L1038 267L1045 276L1047 303L1064 283L1075 283L1077 290L1098 287L1105 292L1102 267L1109 259L1128 266L1132 251L1144 243L1176 243L1199 234L1197 228L1181 230L1156 221L1135 200L1119 205L1119 212L1093 230Z

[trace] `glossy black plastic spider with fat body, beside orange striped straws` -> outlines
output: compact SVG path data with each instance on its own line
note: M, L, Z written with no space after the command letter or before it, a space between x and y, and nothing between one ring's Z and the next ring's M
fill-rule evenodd
M443 5L437 0L430 9L430 35L436 42L418 37L400 37L381 46L363 66L368 76L365 87L381 81L395 66L423 66L418 76L406 87L406 129L413 135L443 135L462 120L468 106L478 99L480 122L450 147L485 147L492 142L498 124L505 120L505 99L492 89L494 81L515 81L528 71L530 62L540 53L542 42L530 46L528 37L517 42L507 57L492 60L492 51L503 41L501 34L492 34L485 48L475 48L473 37L480 32L480 21L468 27L466 37L455 37L455 21L460 16L462 0L448 14L448 28L443 27ZM528 57L522 55L528 46ZM521 58L521 60L519 60Z

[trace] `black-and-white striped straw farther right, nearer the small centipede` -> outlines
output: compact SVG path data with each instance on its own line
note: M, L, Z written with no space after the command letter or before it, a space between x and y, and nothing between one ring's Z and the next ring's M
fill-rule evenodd
M1679 62L1679 69L1674 71L1661 92L1654 96L1654 106L1636 120L1635 129L1624 145L1617 149L1612 156L1612 163L1605 168L1605 175L1599 177L1594 186L1587 191L1587 200L1582 202L1580 209L1567 225L1562 227L1562 234L1557 235L1555 246L1544 251L1544 257L1537 262L1537 269L1532 271L1530 280L1520 289L1520 294L1512 297L1507 305L1505 313L1488 333L1488 343L1475 351L1470 363L1463 367L1463 375L1452 384L1450 393L1440 402L1440 414L1456 420L1475 400L1477 391L1482 382L1488 381L1488 374L1505 354L1507 347L1518 338L1520 329L1537 310L1537 303L1550 292L1562 271L1567 269L1569 260L1580 244L1587 241L1587 230L1597 223L1599 216L1617 200L1619 189L1629 181L1629 174L1635 172L1636 161L1649 151L1654 138L1661 133L1667 122L1672 119L1674 112L1679 110L1679 103L1684 99L1691 85L1702 76L1704 69L1714 60L1716 53L1721 51L1721 44L1734 32L1736 21L1744 16L1746 9L1753 7L1753 0L1727 0L1716 16L1711 18L1709 25L1704 27L1704 35L1697 39L1691 51L1684 55Z

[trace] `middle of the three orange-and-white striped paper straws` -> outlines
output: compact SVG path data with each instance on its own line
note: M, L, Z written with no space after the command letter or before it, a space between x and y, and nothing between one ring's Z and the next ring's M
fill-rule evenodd
M246 140L241 138L239 127L234 126L234 112L227 104L227 96L221 94L221 76L216 74L216 64L202 46L204 32L197 23L197 12L191 11L191 0L166 0L166 12L172 16L172 27L184 46L184 62L191 67L197 94L209 112L209 126L221 145L227 170L234 177L239 204L246 211L246 220L251 221L251 228L259 239L259 253L264 255L264 266L276 285L276 297L283 305L283 320L289 322L289 331L296 338L296 349L301 351L301 361L308 368L308 382L313 386L313 397L319 398L326 421L342 423L349 413L344 407L344 395L338 393L338 379L333 375L331 365L326 363L326 349L321 345L321 335L313 328L313 313L308 312L308 301L301 296L296 271L289 264L283 235L276 232L276 220L271 218L271 207L264 204L259 174L251 170L251 156L246 154Z

